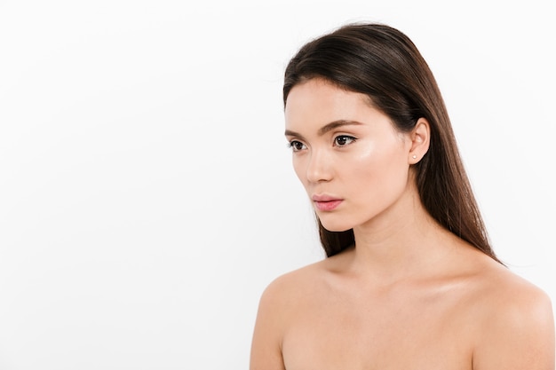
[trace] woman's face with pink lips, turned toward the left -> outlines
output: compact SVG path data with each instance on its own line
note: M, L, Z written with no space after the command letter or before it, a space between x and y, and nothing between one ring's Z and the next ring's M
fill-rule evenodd
M311 79L291 89L285 119L294 169L327 230L403 212L396 204L409 189L410 135L369 98Z

